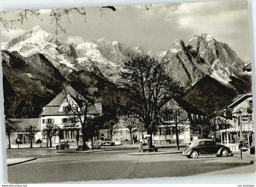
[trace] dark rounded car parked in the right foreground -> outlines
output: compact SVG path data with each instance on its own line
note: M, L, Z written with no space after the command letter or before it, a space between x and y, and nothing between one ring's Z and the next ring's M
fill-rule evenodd
M182 152L182 155L188 158L197 158L199 155L206 154L227 157L232 154L232 151L227 146L216 144L212 139L197 139L191 141Z

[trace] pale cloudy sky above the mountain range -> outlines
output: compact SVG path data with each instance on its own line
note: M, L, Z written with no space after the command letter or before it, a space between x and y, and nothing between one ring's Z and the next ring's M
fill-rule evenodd
M87 39L119 41L145 52L168 50L175 39L186 44L194 35L207 33L216 40L225 42L244 61L250 61L250 30L247 1L187 2L181 4L152 4L149 10L144 5L116 7L113 12L96 7L86 8L84 16L75 11L60 21L66 33L59 32L58 38L66 42L80 43ZM54 33L55 24L50 24L49 10L40 10L40 19L29 17L23 25L15 24L15 30L7 32L1 27L1 41L21 35L35 25ZM4 16L15 19L18 12L7 12ZM1 25L2 26L2 25Z

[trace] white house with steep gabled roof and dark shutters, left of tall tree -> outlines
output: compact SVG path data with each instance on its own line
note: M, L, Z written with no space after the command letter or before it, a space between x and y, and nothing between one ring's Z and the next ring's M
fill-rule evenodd
M76 142L77 134L80 136L82 126L77 120L78 116L68 110L68 107L77 107L80 110L81 100L86 100L71 86L66 86L52 101L43 107L43 112L40 114L41 137L43 143L46 144L46 135L43 129L46 124L57 124L60 127L59 135L52 138L52 143L60 141ZM88 101L90 103L90 101ZM88 104L88 117L102 115L102 104L100 101L93 101Z

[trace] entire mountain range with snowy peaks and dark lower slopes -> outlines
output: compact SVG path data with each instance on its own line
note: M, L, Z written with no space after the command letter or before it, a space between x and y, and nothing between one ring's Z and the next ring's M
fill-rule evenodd
M37 117L62 84L108 92L116 86L113 83L124 63L141 54L166 63L169 75L187 87L187 101L207 114L227 106L236 94L251 90L251 76L242 70L245 63L227 44L207 34L194 36L186 44L176 40L163 52L144 52L141 47L107 39L68 44L36 26L2 43L1 49L5 83L13 88L19 107L37 106L32 116L31 111L17 108L21 113L12 114L15 117ZM13 98L5 101L12 103Z

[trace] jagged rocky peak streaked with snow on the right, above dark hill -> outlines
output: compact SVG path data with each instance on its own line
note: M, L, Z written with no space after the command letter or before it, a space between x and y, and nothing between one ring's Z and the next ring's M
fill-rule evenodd
M232 77L243 73L244 62L236 53L211 35L194 36L185 44L176 40L162 58L174 79L190 87L205 75L232 87Z

